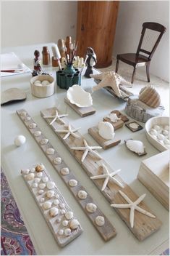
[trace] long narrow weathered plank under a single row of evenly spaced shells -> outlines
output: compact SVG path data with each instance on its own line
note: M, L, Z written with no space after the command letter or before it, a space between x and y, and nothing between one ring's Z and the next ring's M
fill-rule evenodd
M23 112L25 113L25 116L22 116ZM87 198L83 199L83 200L80 199L79 196L77 196L79 191L86 191L86 190L80 184L80 182L77 180L75 175L72 173L71 169L69 169L69 167L67 167L67 164L65 164L63 160L61 160L61 164L55 164L54 163L54 159L61 158L59 156L59 153L57 151L55 151L55 150L54 150L54 154L49 155L49 154L46 153L48 148L54 148L54 147L51 145L51 143L49 143L49 141L48 141L48 143L46 145L41 145L41 141L44 140L44 139L47 139L47 138L43 135L43 132L41 132L41 129L38 128L37 124L36 124L35 128L30 129L29 125L32 124L32 123L35 124L35 122L31 118L31 116L24 109L21 109L21 110L17 111L17 115L20 117L22 122L25 124L25 127L27 127L27 129L29 130L30 134L35 139L36 143L38 143L38 145L41 148L41 150L43 151L43 153L45 153L46 157L51 162L51 164L53 165L54 169L56 169L56 172L58 172L58 174L61 177L61 179L67 185L67 188L69 188L69 191L75 197L75 199L77 200L78 204L80 204L80 206L82 207L83 211L88 216L88 218L90 219L91 223L94 225L95 229L98 231L98 233L104 239L104 241L109 241L110 239L114 238L114 236L116 236L116 230L115 230L114 226L109 222L108 218L103 214L103 212L98 207L98 205L95 203L95 201L90 196L90 194L88 193ZM30 120L25 121L25 119L27 119L27 118L30 119ZM41 136L40 137L36 137L35 136L35 132L37 132L37 131L41 132ZM63 168L68 168L69 169L69 175L61 175L61 169L63 169ZM71 187L68 184L69 180L77 180L78 181L77 186ZM93 204L95 204L97 206L97 209L96 209L95 213L89 213L86 210L86 205L88 203L93 203ZM103 225L103 226L96 225L95 217L97 217L97 216L104 217L105 225Z

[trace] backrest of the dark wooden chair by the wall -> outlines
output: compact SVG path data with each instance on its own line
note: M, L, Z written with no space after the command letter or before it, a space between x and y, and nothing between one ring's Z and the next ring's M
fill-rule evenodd
M148 57L148 60L151 60L165 31L166 28L159 23L143 23L137 55L143 52Z

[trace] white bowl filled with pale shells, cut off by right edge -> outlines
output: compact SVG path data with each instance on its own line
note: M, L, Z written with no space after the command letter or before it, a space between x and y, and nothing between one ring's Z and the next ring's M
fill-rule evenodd
M170 149L169 117L158 116L149 119L145 123L146 137L149 142L158 149L166 151Z

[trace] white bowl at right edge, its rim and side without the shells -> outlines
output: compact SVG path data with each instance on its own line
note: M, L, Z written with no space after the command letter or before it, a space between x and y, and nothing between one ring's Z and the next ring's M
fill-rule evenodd
M152 144L155 148L158 149L158 151L167 151L168 148L166 148L164 145L161 143L158 143L157 140L154 140L153 137L150 135L149 131L154 125L169 125L169 116L158 116L158 117L153 117L149 119L145 123L145 131L146 131L146 137L148 138L150 144Z

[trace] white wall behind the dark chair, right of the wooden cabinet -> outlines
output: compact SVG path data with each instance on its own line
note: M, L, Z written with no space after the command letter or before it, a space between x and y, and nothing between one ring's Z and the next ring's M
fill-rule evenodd
M150 73L169 81L169 1L120 1L114 56L136 51L142 24L147 21L166 27L166 33L153 55Z

